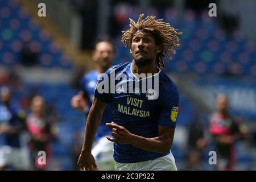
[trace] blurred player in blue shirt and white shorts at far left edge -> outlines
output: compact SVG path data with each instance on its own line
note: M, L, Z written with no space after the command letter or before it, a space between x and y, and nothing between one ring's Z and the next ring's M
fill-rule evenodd
M11 103L11 90L0 90L0 170L26 170L30 168L28 150L20 134L26 129L26 112ZM0 143L1 144L1 143Z

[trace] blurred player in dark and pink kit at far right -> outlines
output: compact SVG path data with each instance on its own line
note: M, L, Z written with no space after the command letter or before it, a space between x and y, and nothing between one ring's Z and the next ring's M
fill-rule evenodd
M216 99L217 111L210 118L209 132L213 137L217 153L216 170L233 170L235 165L234 143L246 137L246 126L241 119L234 118L228 111L228 98L218 94Z

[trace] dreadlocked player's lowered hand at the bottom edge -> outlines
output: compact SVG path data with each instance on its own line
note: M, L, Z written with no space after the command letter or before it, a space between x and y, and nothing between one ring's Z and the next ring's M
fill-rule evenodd
M95 163L95 159L94 159L92 154L81 152L77 164L79 164L82 171L96 171L96 170L98 170L98 167Z

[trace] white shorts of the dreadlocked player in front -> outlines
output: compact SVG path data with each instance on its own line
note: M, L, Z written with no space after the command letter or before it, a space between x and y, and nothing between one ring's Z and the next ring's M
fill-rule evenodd
M115 162L115 171L177 171L174 156L170 154L139 163Z

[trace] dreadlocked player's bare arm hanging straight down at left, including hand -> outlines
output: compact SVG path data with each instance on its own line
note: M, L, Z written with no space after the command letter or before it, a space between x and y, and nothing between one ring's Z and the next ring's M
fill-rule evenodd
M91 150L93 140L98 126L100 125L105 106L105 102L94 98L93 105L90 108L86 121L84 144L82 146L82 151L77 162L82 170L92 171L97 169L97 165L95 163L95 159L91 154Z

